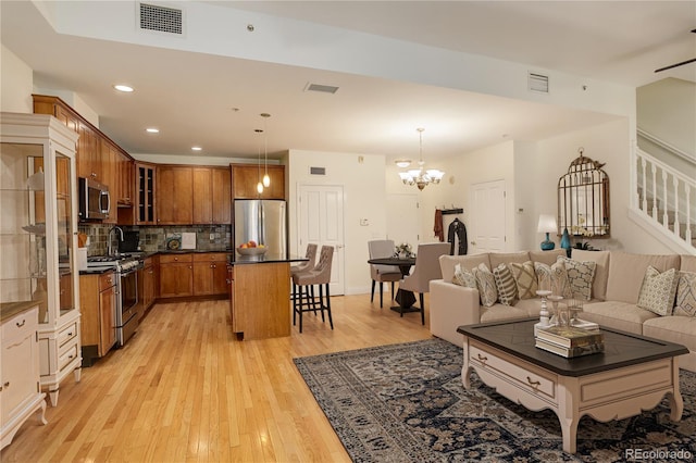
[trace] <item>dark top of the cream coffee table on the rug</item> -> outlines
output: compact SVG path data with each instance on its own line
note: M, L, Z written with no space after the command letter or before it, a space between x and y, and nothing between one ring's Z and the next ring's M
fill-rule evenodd
M584 376L688 353L684 346L600 327L605 352L566 359L534 346L538 318L465 325L458 333L563 376Z

